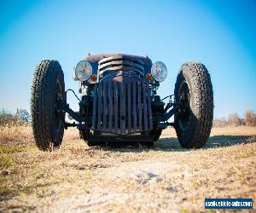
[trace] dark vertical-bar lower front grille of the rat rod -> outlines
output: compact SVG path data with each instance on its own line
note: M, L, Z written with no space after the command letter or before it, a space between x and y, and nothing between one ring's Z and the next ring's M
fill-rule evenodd
M152 130L151 98L143 80L106 78L96 83L92 130L129 135Z

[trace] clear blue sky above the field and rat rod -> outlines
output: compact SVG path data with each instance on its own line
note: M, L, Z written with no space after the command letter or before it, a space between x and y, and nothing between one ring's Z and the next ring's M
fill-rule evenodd
M255 1L0 1L0 108L29 110L40 60L59 60L66 88L90 52L148 55L166 63L160 95L173 93L183 62L212 76L215 117L256 109ZM77 101L70 97L71 106Z

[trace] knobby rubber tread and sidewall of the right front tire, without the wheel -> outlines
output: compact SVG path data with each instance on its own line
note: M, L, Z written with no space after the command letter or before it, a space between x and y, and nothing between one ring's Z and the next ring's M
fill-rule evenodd
M212 82L206 66L195 61L190 61L180 69L177 75L177 82L175 84L175 94L177 95L178 83L183 79L184 67L189 67L191 72L191 83L195 94L195 127L194 133L188 141L183 141L183 136L178 132L177 137L181 145L185 148L200 148L204 147L212 129L213 118L213 91Z

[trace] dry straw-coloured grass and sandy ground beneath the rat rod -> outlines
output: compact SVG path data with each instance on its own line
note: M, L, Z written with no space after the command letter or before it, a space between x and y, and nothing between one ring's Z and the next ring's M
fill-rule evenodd
M73 129L44 153L29 127L0 129L0 211L204 212L205 198L253 198L255 208L255 135L214 128L205 148L188 150L168 129L153 148L87 147Z

